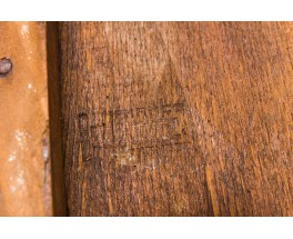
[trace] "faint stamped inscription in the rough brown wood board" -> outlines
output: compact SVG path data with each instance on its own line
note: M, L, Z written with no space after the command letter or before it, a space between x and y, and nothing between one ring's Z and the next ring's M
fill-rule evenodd
M141 150L190 143L185 122L185 102L102 110L78 117L82 160L101 158L107 150L121 159L121 165L133 165Z

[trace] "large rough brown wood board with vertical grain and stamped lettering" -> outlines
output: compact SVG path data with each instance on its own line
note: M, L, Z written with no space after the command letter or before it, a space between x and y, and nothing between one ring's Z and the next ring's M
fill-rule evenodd
M293 216L293 23L59 34L70 216Z

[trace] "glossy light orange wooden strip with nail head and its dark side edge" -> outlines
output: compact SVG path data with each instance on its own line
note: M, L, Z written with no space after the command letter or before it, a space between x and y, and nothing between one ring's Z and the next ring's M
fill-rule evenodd
M54 130L60 116L59 122L55 113L50 112L49 118L48 81L51 87L59 79L51 77L53 64L47 64L48 52L54 51L47 49L47 33L44 22L0 22L0 59L12 63L0 78L0 216L64 213L60 176L54 173L51 180L51 168L62 166L62 149L51 143L58 137L49 130L49 119ZM58 94L57 88L54 92ZM58 112L55 98L50 102ZM52 145L55 148L50 153ZM60 199L58 206L52 195Z

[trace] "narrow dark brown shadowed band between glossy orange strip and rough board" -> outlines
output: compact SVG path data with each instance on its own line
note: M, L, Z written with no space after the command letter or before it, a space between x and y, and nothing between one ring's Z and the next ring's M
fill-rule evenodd
M50 127L50 159L52 180L52 213L65 216L64 196L64 160L62 151L62 120L61 120L61 91L60 91L60 62L58 46L58 24L47 22L47 77L49 97L49 127Z

